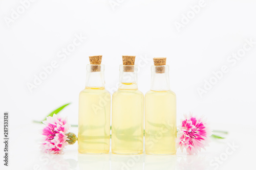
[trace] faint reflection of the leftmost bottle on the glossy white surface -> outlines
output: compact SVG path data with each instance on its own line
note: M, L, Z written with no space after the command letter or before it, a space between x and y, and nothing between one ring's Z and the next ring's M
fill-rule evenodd
M110 154L78 154L79 170L110 170Z

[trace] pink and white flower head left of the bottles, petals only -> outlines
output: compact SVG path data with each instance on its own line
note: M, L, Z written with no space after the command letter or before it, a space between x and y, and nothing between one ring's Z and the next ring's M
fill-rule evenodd
M41 145L42 152L48 154L62 154L65 146L69 144L67 141L68 135L66 135L66 133L70 125L67 123L67 120L54 114L52 117L48 116L42 123L46 125L46 127L42 129L42 135L45 136L45 141Z

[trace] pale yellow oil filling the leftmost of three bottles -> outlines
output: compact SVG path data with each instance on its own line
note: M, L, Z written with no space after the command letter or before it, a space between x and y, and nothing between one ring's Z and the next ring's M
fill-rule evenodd
M78 152L104 154L110 150L111 96L104 87L86 87L79 94Z

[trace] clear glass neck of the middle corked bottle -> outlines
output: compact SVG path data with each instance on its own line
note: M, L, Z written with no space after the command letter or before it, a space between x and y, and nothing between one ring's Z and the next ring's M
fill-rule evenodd
M120 77L118 89L137 90L137 65L120 65Z

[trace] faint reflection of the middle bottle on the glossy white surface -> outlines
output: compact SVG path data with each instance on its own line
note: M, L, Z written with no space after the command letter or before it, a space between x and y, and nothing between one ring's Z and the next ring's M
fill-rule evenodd
M111 169L141 170L143 169L144 154L140 155L111 155Z

